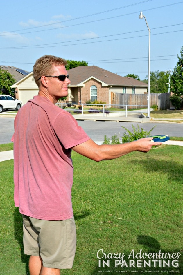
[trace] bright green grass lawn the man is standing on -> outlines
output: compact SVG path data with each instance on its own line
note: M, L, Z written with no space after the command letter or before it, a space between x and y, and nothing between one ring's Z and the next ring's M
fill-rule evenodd
M73 152L77 249L73 269L62 270L61 274L147 274L165 270L183 274L182 155L182 146L161 145L148 153L133 152L96 163ZM13 160L0 162L0 171L0 274L29 274L21 215L13 202ZM151 267L145 268L114 268L114 259L110 259L110 267L98 267L96 255L100 249L106 254L124 253L128 265L132 250L135 255L142 249L147 254L161 250L181 256L177 268L172 266L173 259L170 267L159 267L158 261L157 267L151 262Z

